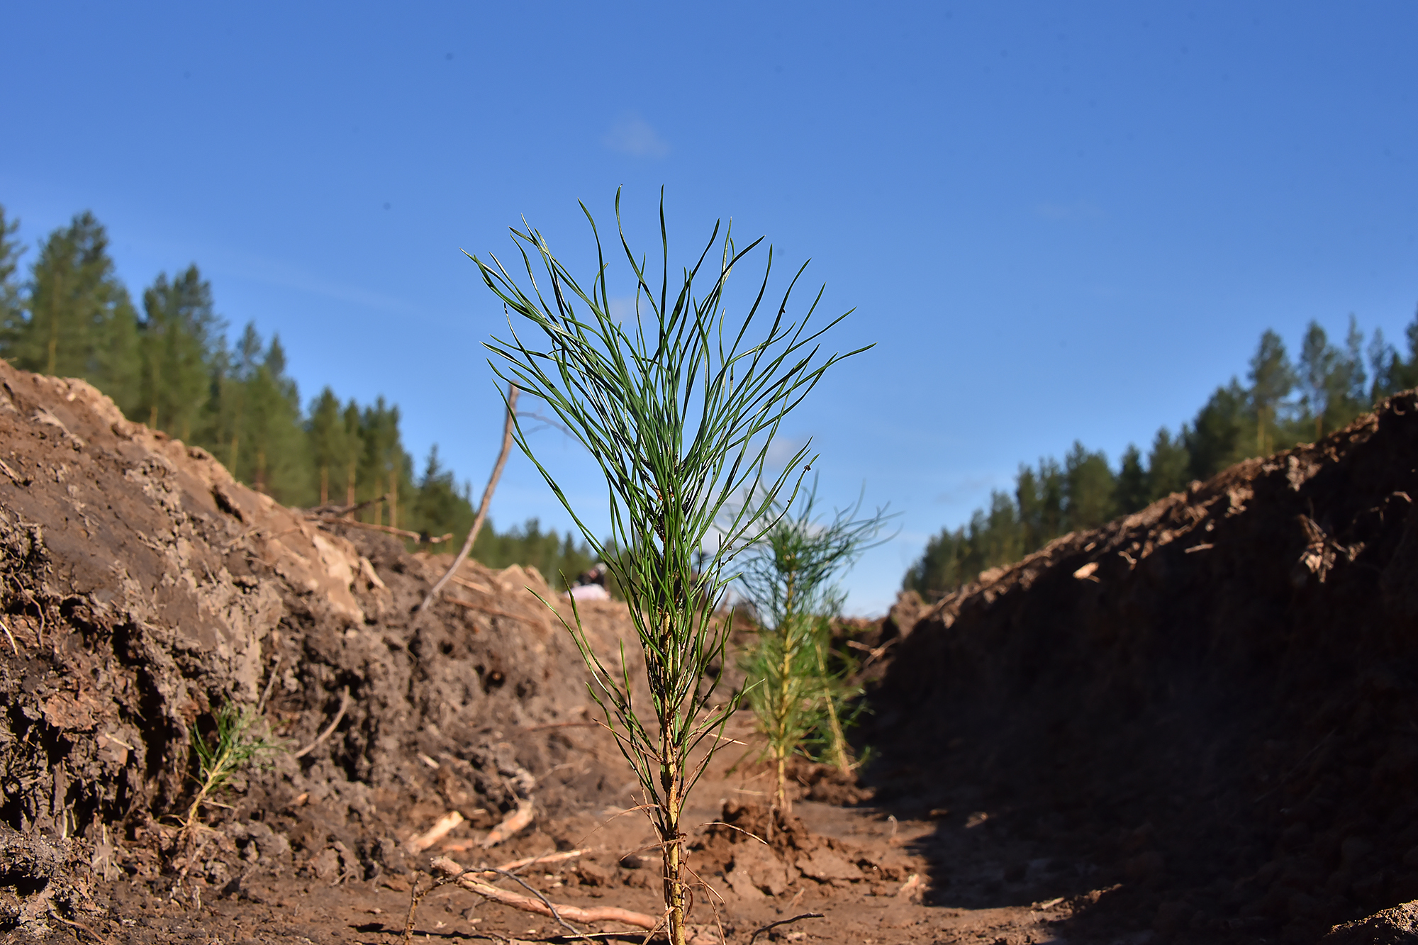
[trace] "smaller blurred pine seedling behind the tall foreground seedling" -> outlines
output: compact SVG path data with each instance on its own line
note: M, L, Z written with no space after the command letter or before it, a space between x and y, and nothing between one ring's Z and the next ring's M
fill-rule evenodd
M817 484L800 494L797 512L780 508L774 525L750 549L739 578L757 614L759 633L744 656L749 705L764 736L764 756L777 775L773 806L791 810L787 763L805 752L810 736L844 773L851 770L841 705L849 691L828 667L831 621L842 595L832 579L876 543L885 509L856 518L861 502L820 521Z

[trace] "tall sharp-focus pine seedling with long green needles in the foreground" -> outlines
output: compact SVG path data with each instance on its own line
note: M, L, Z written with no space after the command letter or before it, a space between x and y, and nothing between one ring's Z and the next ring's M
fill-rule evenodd
M776 305L767 301L769 248L761 280L749 287L747 311L730 318L729 275L761 240L740 250L727 230L720 240L715 226L698 260L674 271L661 194L659 261L652 270L630 248L618 193L615 217L634 285L634 314L613 315L610 267L596 221L584 204L581 210L597 251L587 288L529 226L512 230L522 284L496 257L471 258L509 312L509 341L488 343L493 370L545 402L605 475L610 539L587 525L518 426L518 446L630 603L645 656L648 711L635 704L624 651L618 670L607 665L613 654L593 651L574 599L566 626L590 670L591 697L651 805L662 844L669 938L683 945L681 814L719 745L713 736L742 698L740 691L718 690L730 624L715 612L736 578L729 570L735 555L773 525L776 499L795 494L815 458L804 444L781 471L767 468L769 446L783 419L831 365L848 356L818 356L822 332L845 315L810 329L821 291L801 318L788 315L803 270ZM749 501L730 509L743 497ZM705 759L691 763L695 752Z

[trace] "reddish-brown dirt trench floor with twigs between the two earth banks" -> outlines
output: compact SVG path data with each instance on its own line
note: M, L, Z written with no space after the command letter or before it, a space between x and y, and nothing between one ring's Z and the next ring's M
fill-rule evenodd
M729 731L752 739L747 719ZM567 758L596 766L618 761L611 741L587 728L567 728ZM742 749L739 749L742 751ZM1037 863L1027 875L1012 877L1017 905L939 905L932 877L942 868L956 875L978 874L984 892L997 891L993 864L1010 857L978 824L942 831L937 820L899 820L886 810L841 806L811 796L855 790L827 769L798 769L800 797L794 819L769 830L761 805L770 773L720 753L693 795L689 868L705 885L696 888L691 910L695 942L749 942L757 929L811 912L757 936L793 942L1051 942L1062 941L1058 924L1072 914L1073 895L1086 881L1054 864ZM574 773L569 772L571 776ZM557 775L553 775L556 778ZM811 785L814 779L820 783ZM811 785L811 786L810 786ZM815 788L815 790L814 790ZM628 810L634 797L623 785L618 803L587 807L560 817L537 817L513 840L493 850L478 846L485 830L464 823L424 857L400 858L372 877L312 875L311 870L257 868L240 887L214 888L201 878L187 881L121 881L109 888L121 915L123 941L130 942L401 942L411 884L430 887L430 874L415 861L448 856L465 867L512 863L556 851L586 853L549 864L533 864L519 878L553 904L581 908L614 905L659 914L659 858L644 814ZM238 812L235 822L244 812ZM301 809L268 813L259 823L277 834L299 829ZM719 822L719 823L716 823ZM406 824L406 831L431 827L434 817ZM722 826L727 824L727 826ZM784 829L786 827L786 829ZM753 834L753 836L750 836ZM228 831L230 836L230 831ZM767 844L754 837L769 837ZM259 846L259 840L257 841ZM1008 844L1005 844L1008 846ZM265 857L252 857L265 867ZM315 867L319 868L318 866ZM513 880L501 885L529 890ZM166 891L164 891L166 890ZM956 885L956 894L963 887ZM1082 901L1088 901L1083 897ZM111 931L118 927L111 924ZM414 941L571 941L552 918L488 902L457 885L425 895L415 912ZM617 922L577 924L581 932L625 931L623 941L641 941L644 931ZM722 936L722 938L720 938Z

